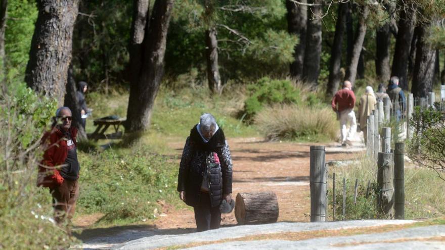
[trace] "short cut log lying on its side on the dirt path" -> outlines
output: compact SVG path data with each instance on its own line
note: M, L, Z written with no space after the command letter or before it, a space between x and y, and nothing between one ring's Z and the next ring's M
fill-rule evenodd
M240 225L277 222L277 195L274 192L238 193L235 217Z

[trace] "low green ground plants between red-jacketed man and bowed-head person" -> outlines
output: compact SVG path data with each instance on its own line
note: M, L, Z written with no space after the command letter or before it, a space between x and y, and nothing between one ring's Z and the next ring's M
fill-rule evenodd
M177 203L177 165L145 145L79 154L79 212L103 213L104 222L137 222L157 216L158 199Z

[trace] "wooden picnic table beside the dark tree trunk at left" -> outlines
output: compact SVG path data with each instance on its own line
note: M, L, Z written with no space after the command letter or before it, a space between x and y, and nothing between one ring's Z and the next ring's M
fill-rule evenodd
M94 126L96 130L88 135L88 138L99 140L99 139L119 139L122 137L122 131L119 131L120 126L125 123L126 118L120 118L118 116L107 116L94 120ZM114 133L105 134L107 129L113 126Z

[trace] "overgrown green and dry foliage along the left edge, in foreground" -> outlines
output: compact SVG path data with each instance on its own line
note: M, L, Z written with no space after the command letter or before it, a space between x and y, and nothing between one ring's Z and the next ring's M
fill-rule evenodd
M54 224L48 189L35 186L40 136L55 103L24 84L11 87L0 90L0 249L66 249L73 239Z

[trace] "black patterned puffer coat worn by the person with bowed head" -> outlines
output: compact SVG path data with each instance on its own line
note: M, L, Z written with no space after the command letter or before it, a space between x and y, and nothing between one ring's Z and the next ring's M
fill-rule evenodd
M224 194L232 193L232 158L224 132L219 128L205 143L195 127L190 131L181 158L177 190L185 191L186 204L199 202L204 172L209 180L212 207L219 206Z

